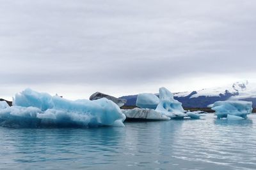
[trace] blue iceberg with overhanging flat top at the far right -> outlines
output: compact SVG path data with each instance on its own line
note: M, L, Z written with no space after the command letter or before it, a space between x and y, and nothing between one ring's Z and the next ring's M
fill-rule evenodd
M253 109L250 101L217 101L209 107L216 111L215 114L218 118L227 118L228 120L247 118Z

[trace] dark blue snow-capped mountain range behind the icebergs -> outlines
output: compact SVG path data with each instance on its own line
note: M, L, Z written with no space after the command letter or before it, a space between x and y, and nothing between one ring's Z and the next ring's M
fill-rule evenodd
M225 101L227 99L253 101L253 107L256 107L256 85L254 86L248 81L237 81L227 87L176 92L173 95L185 108L205 108L215 101ZM120 98L127 99L127 106L133 106L136 103L137 96L123 96Z

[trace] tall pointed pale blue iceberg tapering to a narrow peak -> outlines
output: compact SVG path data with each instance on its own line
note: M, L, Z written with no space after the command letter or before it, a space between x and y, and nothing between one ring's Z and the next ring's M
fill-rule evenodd
M173 99L173 94L164 87L159 89L160 102L157 105L156 111L163 113L170 118L184 118L185 110L182 108L182 103Z

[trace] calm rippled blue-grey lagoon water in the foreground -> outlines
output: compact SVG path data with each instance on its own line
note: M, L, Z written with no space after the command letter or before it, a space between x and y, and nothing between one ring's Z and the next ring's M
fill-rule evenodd
M0 127L0 169L256 169L256 115L125 125Z

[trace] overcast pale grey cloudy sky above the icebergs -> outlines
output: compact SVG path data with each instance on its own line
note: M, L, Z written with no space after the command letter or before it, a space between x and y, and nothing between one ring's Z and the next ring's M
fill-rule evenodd
M256 81L255 0L0 0L0 98Z

